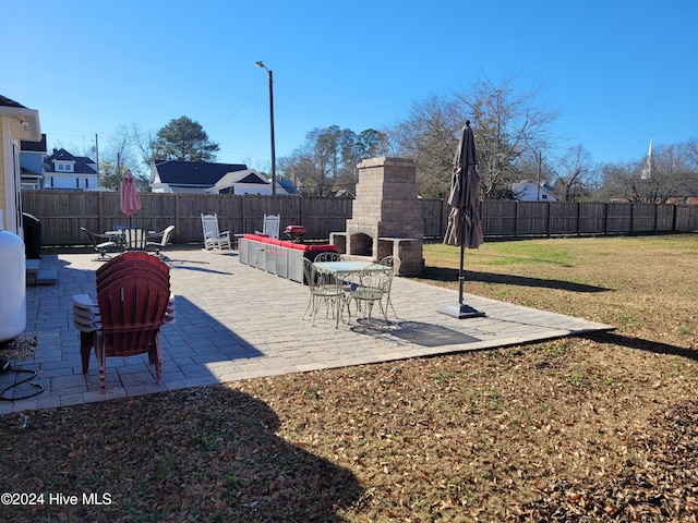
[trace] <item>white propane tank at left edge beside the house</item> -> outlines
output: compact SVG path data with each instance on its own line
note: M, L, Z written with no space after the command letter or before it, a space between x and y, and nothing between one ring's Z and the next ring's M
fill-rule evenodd
M0 342L26 329L26 260L24 242L0 230Z

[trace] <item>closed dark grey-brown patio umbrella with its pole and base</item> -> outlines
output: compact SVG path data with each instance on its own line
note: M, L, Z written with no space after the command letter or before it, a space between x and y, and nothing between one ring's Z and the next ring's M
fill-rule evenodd
M465 248L478 248L482 245L482 221L480 219L480 173L476 138L470 129L470 120L460 134L458 150L454 157L454 170L448 196L450 212L444 243L460 246L460 268L458 271L458 304L440 308L440 313L458 319L484 316L484 313L462 303L462 283L465 280Z

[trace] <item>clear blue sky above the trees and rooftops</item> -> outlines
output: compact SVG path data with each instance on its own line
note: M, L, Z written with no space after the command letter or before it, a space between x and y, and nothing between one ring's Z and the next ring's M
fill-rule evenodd
M430 95L516 76L599 162L698 137L698 1L35 0L0 17L0 94L49 147L186 115L218 161L268 170L314 127L389 126ZM464 114L464 120L468 118Z

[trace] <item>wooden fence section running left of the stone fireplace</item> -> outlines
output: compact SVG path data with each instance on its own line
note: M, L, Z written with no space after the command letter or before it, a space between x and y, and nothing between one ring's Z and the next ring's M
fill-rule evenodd
M134 227L161 231L174 226L174 243L202 242L201 214L218 215L221 231L262 230L264 215L281 215L281 230L303 224L306 238L327 239L344 231L351 217L350 198L290 196L153 194L141 193L142 209L131 218ZM119 206L119 193L88 191L23 191L22 209L40 220L41 244L85 244L81 227L94 232L129 224Z

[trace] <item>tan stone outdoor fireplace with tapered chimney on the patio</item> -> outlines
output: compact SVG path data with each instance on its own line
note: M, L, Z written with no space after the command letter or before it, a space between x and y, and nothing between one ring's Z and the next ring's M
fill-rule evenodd
M417 191L417 163L404 158L371 158L358 166L359 183L345 232L330 243L349 257L400 258L400 275L422 271L424 221Z

